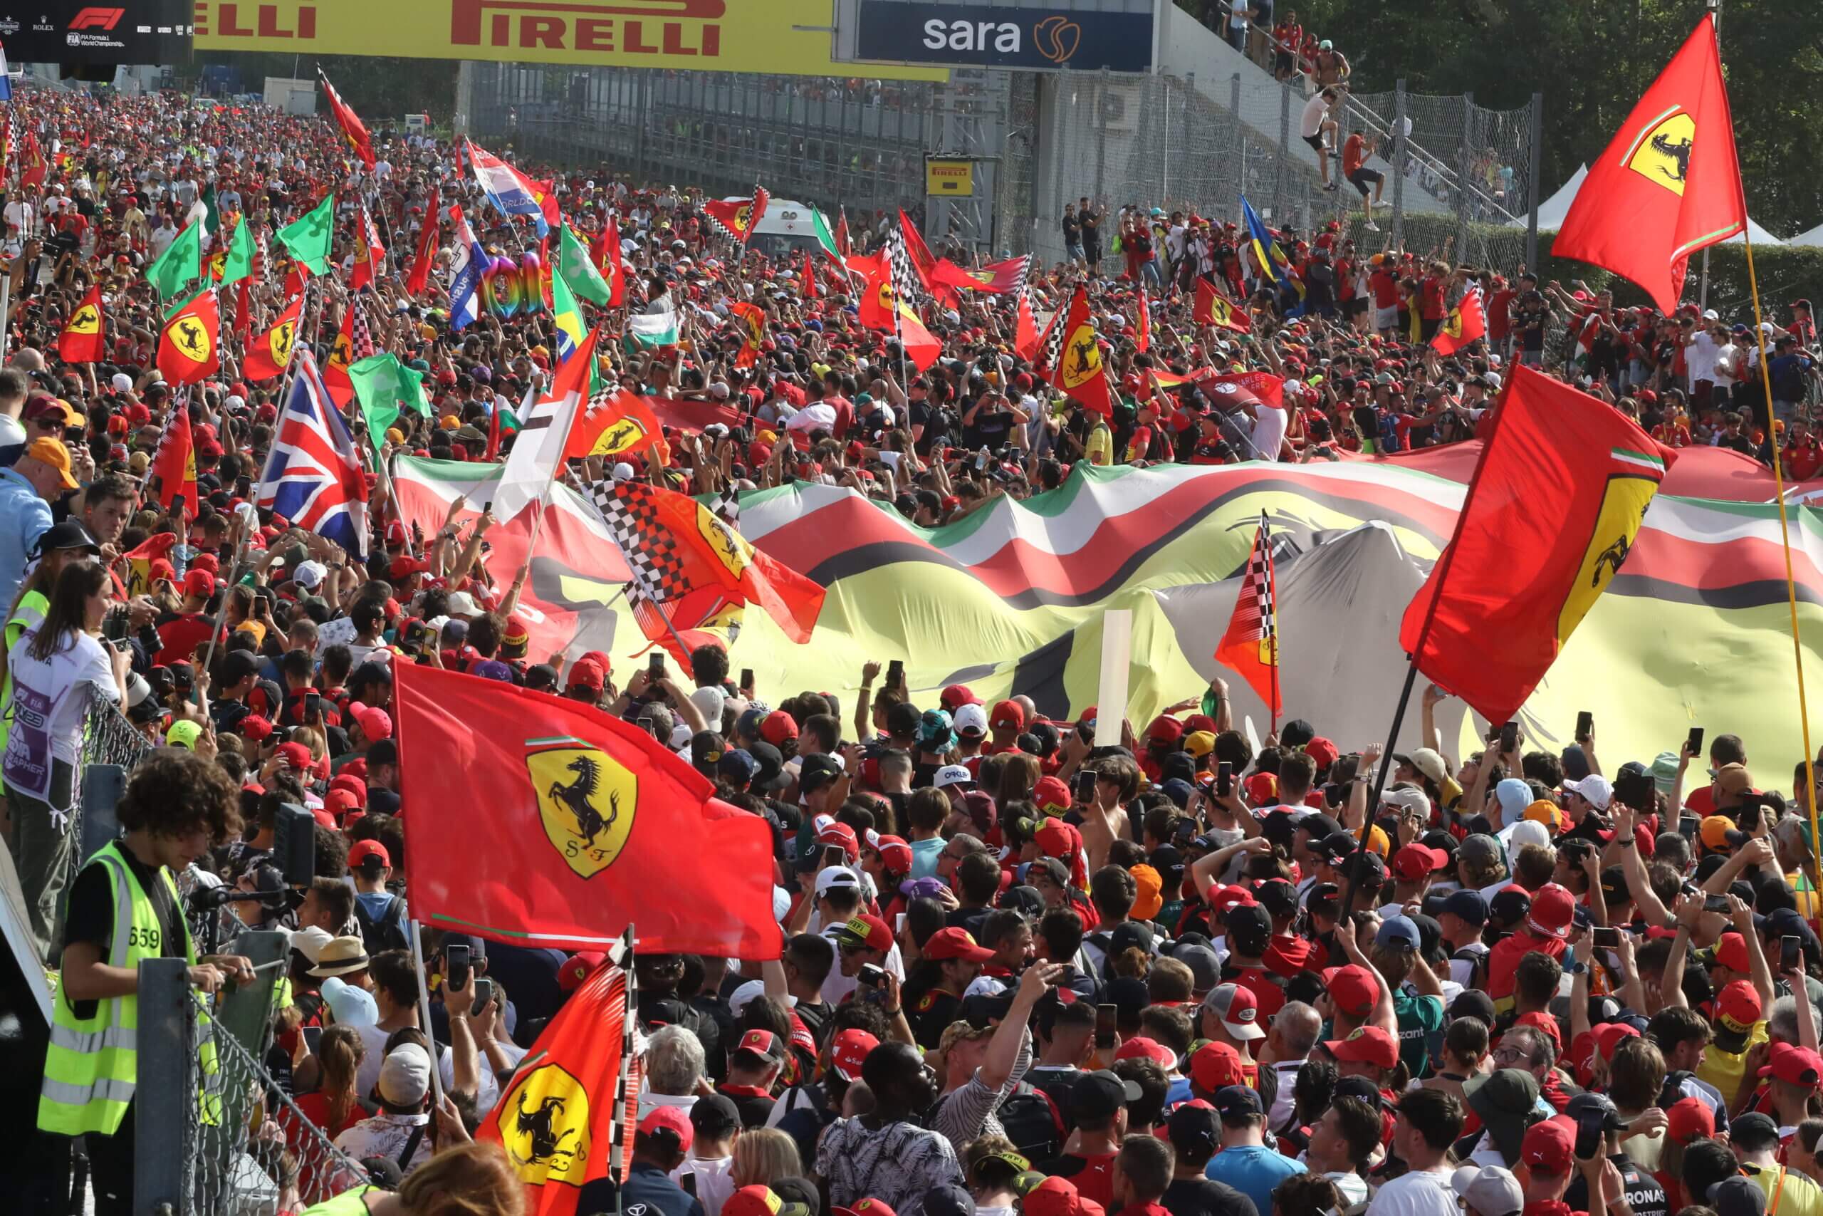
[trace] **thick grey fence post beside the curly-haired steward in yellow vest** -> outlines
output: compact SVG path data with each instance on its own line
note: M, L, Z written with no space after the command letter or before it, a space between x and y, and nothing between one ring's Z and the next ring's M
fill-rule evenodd
M133 1090L133 1211L188 1216L195 1161L184 1132L197 1121L195 1019L184 959L139 964L139 1079Z

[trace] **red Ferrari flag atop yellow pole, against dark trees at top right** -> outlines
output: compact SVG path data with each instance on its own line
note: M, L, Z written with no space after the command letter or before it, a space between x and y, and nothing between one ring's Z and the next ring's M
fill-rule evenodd
M1705 16L1590 164L1551 255L1604 266L1675 312L1690 255L1745 228L1728 89Z

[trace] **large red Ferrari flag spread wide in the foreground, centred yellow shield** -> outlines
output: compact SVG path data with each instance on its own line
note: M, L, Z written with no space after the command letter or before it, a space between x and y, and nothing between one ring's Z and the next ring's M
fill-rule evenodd
M634 922L647 952L778 957L766 820L667 746L498 680L416 664L396 678L401 788L438 820L412 846L427 924L600 950Z

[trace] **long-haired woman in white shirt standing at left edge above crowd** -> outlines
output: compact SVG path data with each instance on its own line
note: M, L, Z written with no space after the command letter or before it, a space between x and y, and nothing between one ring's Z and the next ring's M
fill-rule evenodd
M100 640L108 616L108 571L95 562L64 567L44 620L7 653L13 676L11 733L0 775L13 815L13 864L26 893L38 955L62 939L58 895L75 848L77 757L93 700L126 700L131 656Z

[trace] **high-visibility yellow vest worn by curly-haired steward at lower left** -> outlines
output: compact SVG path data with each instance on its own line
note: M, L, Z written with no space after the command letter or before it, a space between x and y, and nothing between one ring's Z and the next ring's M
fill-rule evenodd
M113 877L113 944L109 966L139 970L140 959L164 955L159 912L133 877L118 842L109 842L89 860L104 866ZM182 908L177 882L160 870L171 902ZM195 944L190 926L179 917L184 935L184 959L193 966ZM199 1028L206 1019L199 1014ZM204 1043L204 1072L211 1072L215 1045ZM67 984L57 984L57 1003L51 1014L51 1048L44 1057L44 1087L38 1092L38 1127L46 1132L78 1136L120 1128L126 1107L133 1101L139 1081L139 997L108 997L95 1003L95 1012L78 1017Z

